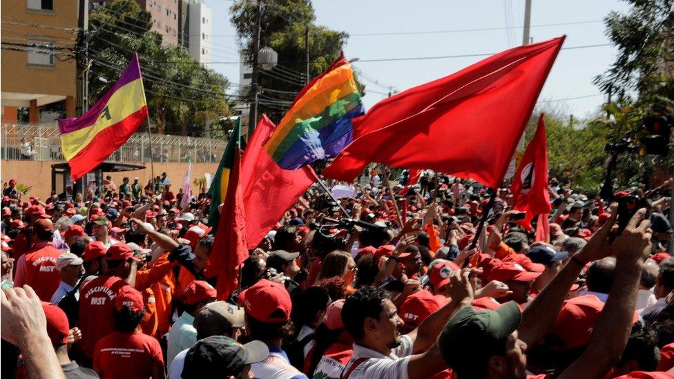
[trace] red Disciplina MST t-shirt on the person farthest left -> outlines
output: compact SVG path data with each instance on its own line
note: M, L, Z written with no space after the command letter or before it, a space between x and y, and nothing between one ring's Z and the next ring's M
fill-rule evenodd
M26 278L23 279L23 284L31 286L44 302L51 301L52 295L61 284L56 260L63 253L52 244L44 244L26 254Z

